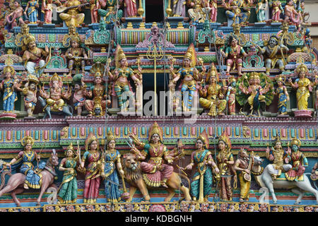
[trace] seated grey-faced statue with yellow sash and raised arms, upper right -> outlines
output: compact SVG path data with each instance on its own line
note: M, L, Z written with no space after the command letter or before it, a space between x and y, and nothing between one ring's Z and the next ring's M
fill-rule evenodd
M273 35L269 38L269 41L264 41L265 47L259 48L259 51L261 54L266 55L265 60L265 67L266 67L266 73L269 74L270 69L275 68L276 65L278 65L278 68L281 69L281 71L285 71L285 58L283 54L283 49L285 49L287 52L289 51L288 47L283 45L281 43L281 40L278 39L277 36Z

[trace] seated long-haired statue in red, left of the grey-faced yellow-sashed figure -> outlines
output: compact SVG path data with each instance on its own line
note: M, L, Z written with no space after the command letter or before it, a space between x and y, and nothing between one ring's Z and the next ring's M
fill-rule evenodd
M231 68L232 70L236 68L238 75L242 76L242 57L248 56L243 47L237 44L237 42L236 35L229 35L225 44L225 51L223 48L220 49L220 53L226 59L226 74L228 76L230 76Z

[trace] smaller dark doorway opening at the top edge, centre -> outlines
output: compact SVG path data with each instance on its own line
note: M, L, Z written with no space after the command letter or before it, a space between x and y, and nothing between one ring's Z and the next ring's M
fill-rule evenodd
M163 21L163 0L146 0L146 23Z

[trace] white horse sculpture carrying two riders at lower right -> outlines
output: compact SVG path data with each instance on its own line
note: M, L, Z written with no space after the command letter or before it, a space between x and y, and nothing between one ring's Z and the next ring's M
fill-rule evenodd
M261 167L261 162L263 160L261 157L254 155L254 165L252 167L252 174L254 174L254 178L261 187L266 187L271 192L271 196L273 197L273 203L277 203L277 198L274 192L275 189L286 189L291 190L295 194L298 194L298 198L295 201L295 204L299 204L302 201L302 196L304 196L305 191L314 194L316 197L316 203L318 204L318 191L312 187L310 184L310 179L304 174L304 180L298 182L290 182L287 180L272 180L271 174L269 172L269 165L265 167Z

